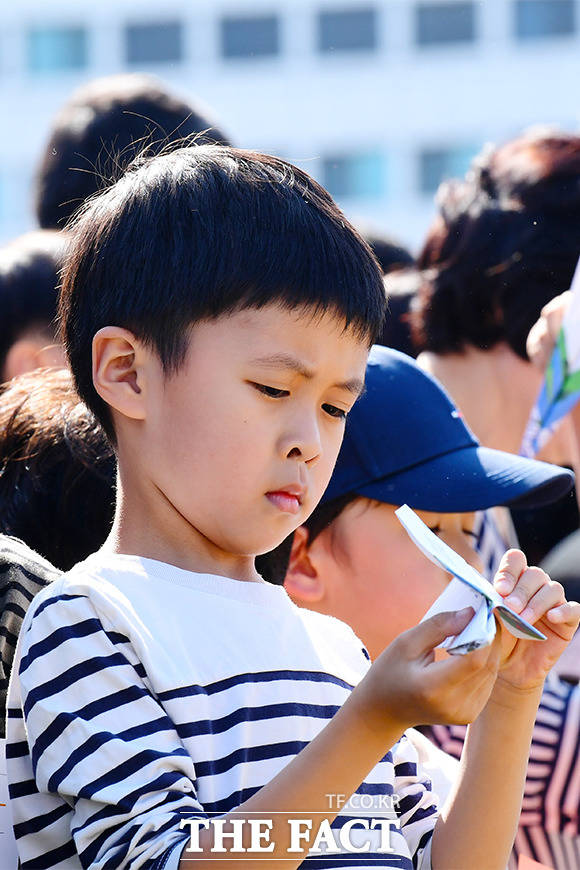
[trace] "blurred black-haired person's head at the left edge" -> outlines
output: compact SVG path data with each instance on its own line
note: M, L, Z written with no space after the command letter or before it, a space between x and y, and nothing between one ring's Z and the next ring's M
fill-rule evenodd
M63 233L37 230L0 246L0 381L65 365L54 323L65 245Z

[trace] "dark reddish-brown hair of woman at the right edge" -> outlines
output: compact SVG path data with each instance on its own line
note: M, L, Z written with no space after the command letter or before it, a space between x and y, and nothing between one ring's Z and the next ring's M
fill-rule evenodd
M487 150L438 204L418 258L418 349L505 341L527 359L532 325L569 288L580 255L580 136L529 134Z

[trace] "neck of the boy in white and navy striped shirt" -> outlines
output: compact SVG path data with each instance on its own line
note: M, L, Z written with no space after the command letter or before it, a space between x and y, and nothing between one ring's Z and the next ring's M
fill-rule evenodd
M133 493L132 497L128 492ZM125 489L120 474L115 519L101 550L155 559L197 574L263 582L253 556L224 553L176 514L171 505L148 498L142 488Z

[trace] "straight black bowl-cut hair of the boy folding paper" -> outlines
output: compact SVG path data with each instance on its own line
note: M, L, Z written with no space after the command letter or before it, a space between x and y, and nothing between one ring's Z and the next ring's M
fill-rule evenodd
M191 325L269 303L336 312L370 346L381 270L330 195L279 158L208 145L145 159L72 229L59 315L79 394L114 442L92 380L99 329L129 329L171 374Z

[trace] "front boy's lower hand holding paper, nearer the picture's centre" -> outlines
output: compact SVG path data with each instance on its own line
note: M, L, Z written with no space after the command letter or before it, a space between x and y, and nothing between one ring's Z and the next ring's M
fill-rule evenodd
M403 632L374 662L355 690L378 727L465 725L486 705L500 664L500 630L489 646L435 660L434 649L473 617L468 607L438 613Z

